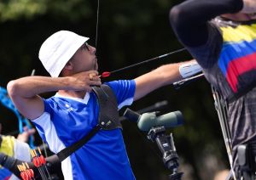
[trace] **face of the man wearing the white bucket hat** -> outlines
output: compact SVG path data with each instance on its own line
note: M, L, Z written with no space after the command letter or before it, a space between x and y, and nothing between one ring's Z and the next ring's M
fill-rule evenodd
M87 70L98 70L96 48L85 42L73 55L73 72L79 73Z

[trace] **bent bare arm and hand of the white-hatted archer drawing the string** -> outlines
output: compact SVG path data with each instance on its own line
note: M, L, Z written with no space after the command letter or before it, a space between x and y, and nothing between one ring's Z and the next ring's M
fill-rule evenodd
M44 102L38 94L58 90L91 91L90 86L101 84L100 79L90 74L94 70L67 77L27 76L9 82L7 89L16 108L26 118L34 120L44 113Z

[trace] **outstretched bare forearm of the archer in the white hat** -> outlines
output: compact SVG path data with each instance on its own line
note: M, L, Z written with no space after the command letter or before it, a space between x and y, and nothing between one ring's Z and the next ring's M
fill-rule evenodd
M195 60L191 60L190 62L195 62ZM179 72L180 65L183 65L188 62L184 63L177 63L171 65L163 65L159 68L148 72L143 76L139 76L135 79L136 82L136 91L134 100L139 98L143 98L143 96L147 95L148 93L154 91L159 87L166 86L168 84L172 84L173 82L177 82L182 80L183 77Z

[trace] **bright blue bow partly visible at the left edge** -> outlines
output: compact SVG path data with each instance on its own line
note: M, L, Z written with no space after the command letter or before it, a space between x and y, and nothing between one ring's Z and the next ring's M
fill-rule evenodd
M0 102L3 104L3 106L8 108L9 110L12 110L15 113L15 115L17 116L18 121L19 121L19 132L20 133L24 132L23 124L28 129L32 128L31 123L25 117L20 115L20 112L15 108L15 104L13 104L12 100L9 98L7 90L3 87L0 87ZM29 145L32 149L34 148L33 140L34 140L33 137L30 136L29 137Z

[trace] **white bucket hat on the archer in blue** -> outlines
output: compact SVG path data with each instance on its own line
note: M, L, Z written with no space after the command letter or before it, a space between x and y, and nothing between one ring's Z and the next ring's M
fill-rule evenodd
M88 39L72 31L57 31L48 37L39 50L39 59L50 76L58 77L68 60Z

